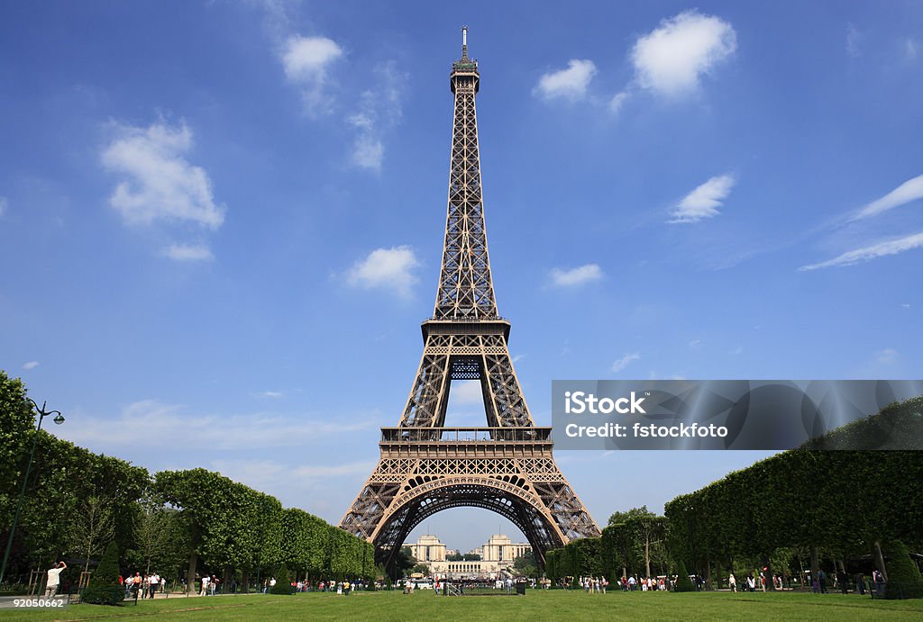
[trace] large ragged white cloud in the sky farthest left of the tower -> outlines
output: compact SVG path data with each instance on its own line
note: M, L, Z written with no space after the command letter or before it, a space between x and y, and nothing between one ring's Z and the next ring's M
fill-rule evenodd
M102 166L123 181L109 198L132 225L156 221L189 222L210 229L221 227L224 208L216 205L208 173L190 164L184 154L192 147L192 132L183 123L171 127L115 125L114 140L102 151Z

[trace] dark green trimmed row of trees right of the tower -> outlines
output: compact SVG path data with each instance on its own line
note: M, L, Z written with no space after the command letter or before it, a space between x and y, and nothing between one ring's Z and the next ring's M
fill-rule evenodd
M921 434L921 413L923 398L915 398L884 408L862 426L893 431L910 422ZM855 436L856 428L843 433ZM839 441L837 431L824 437L825 444ZM646 508L613 514L602 537L550 551L545 572L553 580L605 575L611 581L689 569L710 586L713 569L787 575L793 560L807 559L817 577L821 568L845 571L849 560L865 556L886 577L893 563L904 568L899 579L888 578L923 595L919 572L905 563L908 547L923 550L920 481L920 452L784 452L673 499L665 516Z

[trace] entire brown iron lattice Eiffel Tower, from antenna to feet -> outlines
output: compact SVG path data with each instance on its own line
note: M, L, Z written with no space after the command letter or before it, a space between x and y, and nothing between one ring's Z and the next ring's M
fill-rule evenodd
M414 527L458 507L495 511L519 527L544 568L545 551L599 535L552 456L551 428L534 425L509 358L509 321L490 276L474 96L477 61L452 64L455 96L449 208L433 317L401 425L381 428L381 457L340 527L376 546L392 572ZM451 381L481 382L485 428L446 428Z

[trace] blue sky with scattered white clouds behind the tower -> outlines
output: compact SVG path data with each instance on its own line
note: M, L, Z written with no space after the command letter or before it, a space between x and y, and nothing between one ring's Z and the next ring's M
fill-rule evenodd
M432 312L462 24L540 425L552 379L919 376L923 5L438 4L0 5L0 367L55 433L340 520ZM763 455L557 459L605 523Z

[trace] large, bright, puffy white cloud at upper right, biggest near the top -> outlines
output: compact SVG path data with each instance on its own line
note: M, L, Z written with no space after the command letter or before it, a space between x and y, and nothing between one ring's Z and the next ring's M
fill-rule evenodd
M701 76L737 50L737 33L721 18L686 11L641 37L631 60L643 88L677 97L699 86Z

